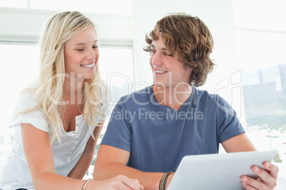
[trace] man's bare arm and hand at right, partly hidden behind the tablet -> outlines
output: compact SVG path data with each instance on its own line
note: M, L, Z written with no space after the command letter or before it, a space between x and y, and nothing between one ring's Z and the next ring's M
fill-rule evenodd
M226 152L255 151L255 147L244 133L224 141L222 145ZM273 189L276 186L278 167L269 162L264 162L264 167L265 169L252 167L253 172L258 175L258 179L247 176L240 177L245 189Z

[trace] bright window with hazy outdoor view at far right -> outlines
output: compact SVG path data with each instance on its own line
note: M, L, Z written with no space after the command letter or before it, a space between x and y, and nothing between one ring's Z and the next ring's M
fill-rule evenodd
M275 161L286 162L286 3L232 2L247 134L258 150L279 150Z

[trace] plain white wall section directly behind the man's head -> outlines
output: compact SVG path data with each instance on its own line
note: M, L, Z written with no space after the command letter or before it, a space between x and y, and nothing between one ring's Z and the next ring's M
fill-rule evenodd
M198 16L211 30L214 40L211 58L216 66L200 89L223 96L240 115L240 73L235 49L235 26L229 0L145 0L132 1L132 23L137 81L152 84L149 54L142 50L144 36L166 13L185 12ZM232 81L231 81L232 79ZM234 85L233 85L234 84ZM233 92L233 93L232 93ZM241 116L239 116L241 117Z

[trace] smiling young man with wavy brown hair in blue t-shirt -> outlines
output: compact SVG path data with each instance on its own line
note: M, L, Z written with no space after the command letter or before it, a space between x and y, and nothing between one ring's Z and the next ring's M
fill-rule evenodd
M213 69L213 38L205 24L184 13L166 16L146 41L154 85L122 97L115 106L98 151L95 179L125 174L145 189L157 190L164 188L162 181L169 186L174 176L169 172L185 155L218 153L219 143L226 152L255 150L231 106L195 87ZM253 167L259 179L241 177L245 189L274 188L278 168L264 165L265 170Z

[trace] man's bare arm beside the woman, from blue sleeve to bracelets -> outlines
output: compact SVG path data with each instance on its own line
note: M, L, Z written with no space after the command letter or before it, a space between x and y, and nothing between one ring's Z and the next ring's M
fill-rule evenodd
M94 179L108 179L123 174L129 178L138 179L144 189L159 189L159 181L163 173L141 172L137 169L127 167L130 153L126 150L112 147L109 145L100 145L95 169Z

